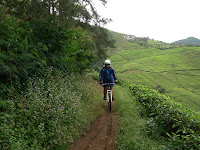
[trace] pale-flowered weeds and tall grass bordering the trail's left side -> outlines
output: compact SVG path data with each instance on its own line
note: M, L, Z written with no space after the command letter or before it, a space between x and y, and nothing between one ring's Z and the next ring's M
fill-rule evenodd
M52 71L30 78L0 112L0 149L67 149L102 111L101 93L88 76Z

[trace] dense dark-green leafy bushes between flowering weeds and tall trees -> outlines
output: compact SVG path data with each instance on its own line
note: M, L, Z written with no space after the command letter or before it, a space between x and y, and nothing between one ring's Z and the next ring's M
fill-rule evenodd
M82 72L95 55L93 41L81 27L69 29L50 22L25 22L0 9L0 81L2 99L9 99L29 77L47 66L65 72Z

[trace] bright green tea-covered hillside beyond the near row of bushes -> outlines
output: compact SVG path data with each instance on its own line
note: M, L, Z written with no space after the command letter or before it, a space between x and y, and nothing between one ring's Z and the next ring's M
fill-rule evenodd
M113 35L116 45L121 45L117 51L110 53L112 66L119 78L153 88L159 85L165 89L165 95L191 109L200 110L199 47L139 49L138 45L135 47L128 41L119 40L121 34ZM123 45L126 45L125 50Z

